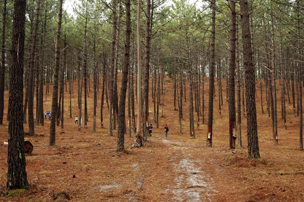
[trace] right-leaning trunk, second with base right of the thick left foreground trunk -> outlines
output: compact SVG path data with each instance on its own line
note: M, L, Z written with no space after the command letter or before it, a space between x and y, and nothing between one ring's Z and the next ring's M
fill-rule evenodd
M56 133L56 113L58 107L58 73L60 60L60 33L61 33L61 19L62 19L62 0L59 0L58 26L57 26L57 42L56 42L56 57L54 69L54 83L53 83L53 97L52 97L52 113L50 123L50 145L55 145Z

